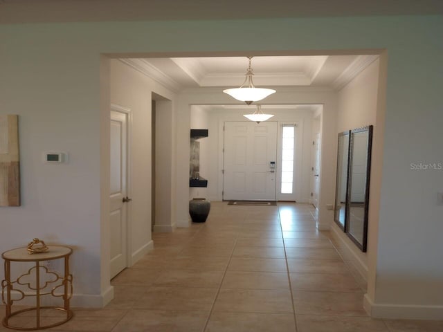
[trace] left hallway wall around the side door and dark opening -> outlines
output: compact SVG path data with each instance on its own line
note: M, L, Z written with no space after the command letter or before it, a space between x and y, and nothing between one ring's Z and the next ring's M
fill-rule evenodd
M156 232L172 232L175 228L171 207L174 93L131 66L111 60L111 103L132 110L132 181L131 181L131 263L152 246L151 243L151 171L152 171L152 92L156 100Z

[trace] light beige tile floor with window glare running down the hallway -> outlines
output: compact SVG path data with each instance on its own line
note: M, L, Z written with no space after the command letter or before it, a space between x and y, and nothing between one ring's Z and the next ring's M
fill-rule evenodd
M316 230L311 205L213 202L206 223L153 239L154 250L112 280L109 305L77 308L51 331L443 331L442 321L368 317L365 281Z

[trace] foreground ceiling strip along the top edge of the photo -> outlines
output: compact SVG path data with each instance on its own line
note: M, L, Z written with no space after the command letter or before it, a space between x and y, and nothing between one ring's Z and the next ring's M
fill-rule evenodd
M0 24L437 14L442 0L0 0Z

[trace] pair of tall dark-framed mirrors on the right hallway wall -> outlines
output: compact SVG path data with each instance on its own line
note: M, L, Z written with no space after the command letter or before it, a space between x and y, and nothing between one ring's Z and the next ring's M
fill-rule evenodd
M335 221L363 252L368 240L371 151L372 126L338 134Z

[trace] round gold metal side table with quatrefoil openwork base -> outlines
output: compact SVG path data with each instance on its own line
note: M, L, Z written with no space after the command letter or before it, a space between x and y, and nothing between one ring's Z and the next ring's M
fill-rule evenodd
M48 246L48 252L39 252L29 255L28 248L17 248L8 250L1 254L5 260L5 279L1 282L1 300L6 304L6 315L3 319L3 326L9 329L16 329L22 331L48 329L53 326L58 326L70 320L73 317L73 312L69 308L69 300L72 297L72 275L69 273L69 257L72 254L72 249L66 246ZM54 259L64 259L64 273L50 271L46 266L42 265L42 261L52 261ZM28 270L28 273L20 275L11 280L11 262L12 261L26 261L33 262L35 266ZM21 286L21 287L20 287ZM23 291L26 288L26 291ZM12 299L12 295L18 297ZM41 300L44 295L51 297L61 297L63 306L42 306ZM12 304L19 302L26 297L35 297L35 306L25 308L18 311L12 311ZM51 324L41 324L42 309L64 311L62 318L57 322ZM35 325L28 326L12 326L9 322L10 318L28 311L35 311ZM26 315L26 314L25 314Z

